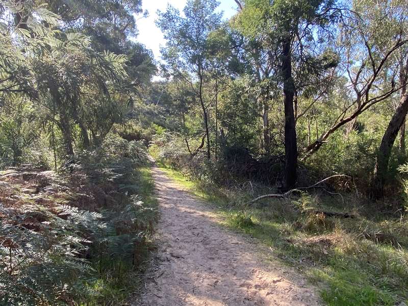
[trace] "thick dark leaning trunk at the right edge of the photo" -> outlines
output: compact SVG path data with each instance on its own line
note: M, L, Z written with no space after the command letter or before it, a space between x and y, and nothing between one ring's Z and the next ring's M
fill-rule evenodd
M388 164L390 161L391 150L397 138L398 131L405 120L408 113L408 93L404 86L401 90L401 104L395 111L387 130L382 137L381 144L377 153L377 160L374 170L374 181L371 188L371 195L373 198L384 197L384 184L386 183Z

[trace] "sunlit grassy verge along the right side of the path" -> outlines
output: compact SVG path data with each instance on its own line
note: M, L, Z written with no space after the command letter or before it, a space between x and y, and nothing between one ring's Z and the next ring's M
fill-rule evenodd
M321 289L326 304L408 303L406 216L368 215L361 203L351 198L343 202L323 194L266 199L248 206L245 203L254 194L209 187L168 167L162 169L215 206L224 225L259 239L270 247L273 258L307 275ZM356 217L327 217L318 211L352 211Z

